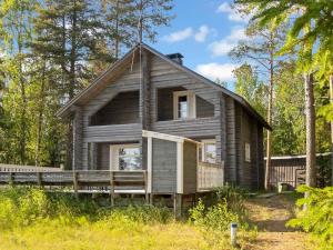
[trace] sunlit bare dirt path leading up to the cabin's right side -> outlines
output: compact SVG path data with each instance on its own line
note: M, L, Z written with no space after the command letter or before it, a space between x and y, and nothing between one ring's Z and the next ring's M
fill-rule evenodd
M313 249L304 232L285 227L293 217L294 201L283 194L271 198L253 198L246 201L250 219L258 226L259 236L251 247L254 250Z

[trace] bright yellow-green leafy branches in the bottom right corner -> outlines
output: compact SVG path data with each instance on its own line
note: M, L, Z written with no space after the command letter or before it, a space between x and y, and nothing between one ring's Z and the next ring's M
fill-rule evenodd
M301 210L287 226L316 236L322 241L322 249L333 249L333 187L317 189L301 186L297 191L309 192L309 196L297 200Z

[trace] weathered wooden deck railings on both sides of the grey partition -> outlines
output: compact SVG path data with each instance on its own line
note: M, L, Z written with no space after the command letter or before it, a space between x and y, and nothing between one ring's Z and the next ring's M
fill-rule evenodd
M196 192L214 190L223 186L222 164L199 162ZM79 193L145 194L148 199L147 170L75 170L63 171L59 168L0 164L0 186L38 186L47 190Z

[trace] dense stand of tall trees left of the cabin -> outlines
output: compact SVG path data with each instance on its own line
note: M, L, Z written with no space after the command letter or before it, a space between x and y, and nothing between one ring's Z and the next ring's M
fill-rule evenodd
M154 41L171 10L172 0L0 1L0 162L70 167L72 128L56 112L138 42L141 14Z

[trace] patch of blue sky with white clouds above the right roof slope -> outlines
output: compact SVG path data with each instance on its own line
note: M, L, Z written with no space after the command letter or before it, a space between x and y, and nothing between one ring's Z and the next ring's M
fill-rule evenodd
M233 82L238 63L228 52L244 38L246 18L229 7L226 0L174 0L176 17L170 27L158 29L157 43L162 53L180 52L184 64L215 80Z

